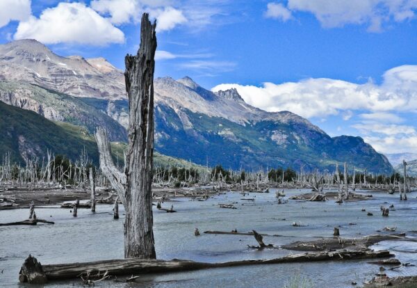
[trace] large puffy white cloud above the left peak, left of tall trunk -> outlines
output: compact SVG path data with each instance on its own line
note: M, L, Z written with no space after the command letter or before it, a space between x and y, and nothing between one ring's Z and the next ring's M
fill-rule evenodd
M83 3L61 2L39 18L20 22L15 39L34 38L45 44L107 45L124 42L124 33Z

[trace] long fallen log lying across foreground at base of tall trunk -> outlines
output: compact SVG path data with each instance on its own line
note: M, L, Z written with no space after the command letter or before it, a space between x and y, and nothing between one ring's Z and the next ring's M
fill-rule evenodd
M296 255L288 255L275 259L256 259L256 260L241 260L223 263L204 263L193 262L189 260L158 260L158 259L113 259L97 262L73 263L73 264L51 264L41 265L35 257L29 255L28 259L22 265L19 272L20 282L32 282L33 274L30 269L27 269L34 262L38 263L40 269L36 271L39 278L47 280L66 280L79 278L87 273L97 273L97 275L117 276L117 275L136 275L144 273L170 273L177 271L193 271L199 269L213 269L222 267L234 267L245 265L259 265L259 264L282 264L294 262L318 262L318 261L341 261L354 259L372 259L372 258L386 258L393 255L389 250L360 250L360 251L346 251L337 250L333 252L319 252L319 253L302 253Z

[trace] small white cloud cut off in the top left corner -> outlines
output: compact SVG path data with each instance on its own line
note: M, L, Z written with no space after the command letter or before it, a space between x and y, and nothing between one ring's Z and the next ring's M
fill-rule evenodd
M31 0L1 0L0 27L10 21L25 21L31 17Z

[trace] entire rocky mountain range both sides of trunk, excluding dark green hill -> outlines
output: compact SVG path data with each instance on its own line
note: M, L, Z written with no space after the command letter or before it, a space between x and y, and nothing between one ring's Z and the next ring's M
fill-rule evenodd
M103 58L61 57L35 40L17 40L0 45L0 81L3 102L90 132L100 125L113 141L126 139L124 76ZM154 80L154 101L155 149L166 155L234 169L334 170L346 161L393 172L362 138L332 138L294 113L250 106L234 89L213 93L189 77L164 77Z

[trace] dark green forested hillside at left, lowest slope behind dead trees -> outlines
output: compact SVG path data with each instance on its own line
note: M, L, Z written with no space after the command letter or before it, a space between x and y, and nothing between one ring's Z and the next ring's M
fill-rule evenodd
M38 113L0 101L0 131L0 157L10 152L10 160L13 163L24 163L25 159L33 157L42 161L43 157L47 157L47 150L56 155L64 154L76 161L81 155L81 150L85 149L88 158L98 165L99 153L95 138L82 127L47 120ZM126 144L111 143L111 147L115 159L123 161ZM200 171L204 169L195 163L158 152L154 154L154 166L192 167Z

